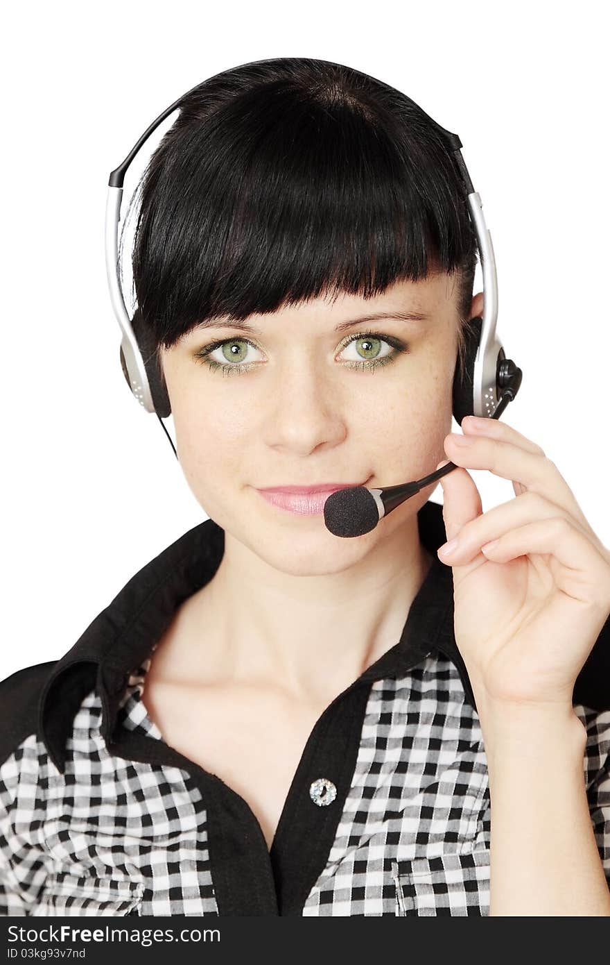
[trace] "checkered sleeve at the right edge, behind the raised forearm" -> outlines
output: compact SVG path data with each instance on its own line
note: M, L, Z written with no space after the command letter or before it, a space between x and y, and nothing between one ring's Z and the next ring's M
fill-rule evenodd
M574 708L587 730L584 757L589 812L601 864L610 886L610 710Z

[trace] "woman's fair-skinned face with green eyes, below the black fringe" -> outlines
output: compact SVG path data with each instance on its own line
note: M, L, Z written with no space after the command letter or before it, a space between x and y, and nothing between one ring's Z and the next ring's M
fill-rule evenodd
M252 315L247 331L214 319L162 350L177 455L207 515L295 575L347 569L412 525L434 483L358 538L258 489L390 486L434 471L451 428L456 286L436 274L372 298L316 298Z

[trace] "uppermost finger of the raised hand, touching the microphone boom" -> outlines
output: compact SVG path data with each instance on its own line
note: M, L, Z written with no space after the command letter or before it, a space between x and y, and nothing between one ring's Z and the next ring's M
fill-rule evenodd
M463 421L465 427L467 423L465 419ZM489 432L486 427L485 435L480 434L483 431L481 429L477 430L477 434L471 432L468 435L452 434L445 437L444 449L451 461L469 469L488 469L494 476L511 480L514 485L520 483L523 491L540 493L559 509L573 516L601 549L602 544L580 509L570 486L555 463L544 455L540 446L524 440L528 444L524 448L520 440L511 441L516 429L499 423L496 419L485 421L490 423ZM492 423L494 427L491 427ZM505 429L509 431L505 433ZM456 438L467 440L466 445L456 443ZM517 492L517 488L515 491ZM522 492L517 495L522 495Z

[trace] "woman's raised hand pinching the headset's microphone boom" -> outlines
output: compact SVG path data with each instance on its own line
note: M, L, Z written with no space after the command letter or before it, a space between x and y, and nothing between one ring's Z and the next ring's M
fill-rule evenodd
M468 416L462 428L444 441L461 468L440 480L457 547L438 557L453 568L456 642L475 700L571 707L610 614L610 550L540 446L496 419ZM516 498L483 512L466 466L511 480Z

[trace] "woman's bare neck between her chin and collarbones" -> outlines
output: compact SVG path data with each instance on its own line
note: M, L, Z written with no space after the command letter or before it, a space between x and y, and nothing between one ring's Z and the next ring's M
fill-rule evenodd
M166 666L191 682L328 703L400 639L433 556L417 518L338 573L294 576L225 533L213 579L183 605Z

